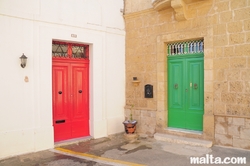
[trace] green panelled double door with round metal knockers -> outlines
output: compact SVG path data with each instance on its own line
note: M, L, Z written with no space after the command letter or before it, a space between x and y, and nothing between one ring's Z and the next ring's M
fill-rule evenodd
M204 58L168 57L168 126L203 130Z

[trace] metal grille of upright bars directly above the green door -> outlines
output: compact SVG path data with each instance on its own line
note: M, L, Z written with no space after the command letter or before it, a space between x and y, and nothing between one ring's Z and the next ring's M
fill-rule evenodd
M190 40L168 44L168 56L197 54L204 52L203 40Z

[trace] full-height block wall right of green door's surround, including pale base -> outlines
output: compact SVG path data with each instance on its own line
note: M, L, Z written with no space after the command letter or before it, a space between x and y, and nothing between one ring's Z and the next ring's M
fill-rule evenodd
M249 149L250 2L216 1L213 12L215 143Z

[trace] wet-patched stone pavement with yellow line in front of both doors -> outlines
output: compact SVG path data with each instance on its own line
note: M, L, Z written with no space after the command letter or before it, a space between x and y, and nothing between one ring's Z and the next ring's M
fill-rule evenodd
M250 151L247 150L175 144L144 135L128 139L123 134L117 134L73 144L61 144L55 149L3 159L0 160L0 166L188 166L192 165L190 156L207 155L222 159L246 157L246 164L242 165L250 165Z

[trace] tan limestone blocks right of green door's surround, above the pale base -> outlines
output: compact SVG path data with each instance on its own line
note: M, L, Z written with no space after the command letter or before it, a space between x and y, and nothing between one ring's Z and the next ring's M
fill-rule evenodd
M249 117L250 2L223 1L215 7L214 114Z

